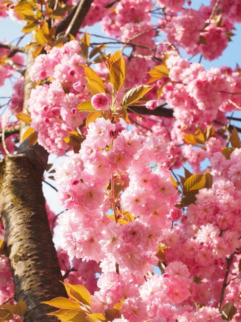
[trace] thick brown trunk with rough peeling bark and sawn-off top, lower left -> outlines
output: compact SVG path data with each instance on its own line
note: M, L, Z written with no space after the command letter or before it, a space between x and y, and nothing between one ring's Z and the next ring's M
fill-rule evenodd
M26 302L24 322L57 321L46 316L49 307L41 304L66 297L42 192L48 154L39 146L23 152L0 164L0 207L15 297Z

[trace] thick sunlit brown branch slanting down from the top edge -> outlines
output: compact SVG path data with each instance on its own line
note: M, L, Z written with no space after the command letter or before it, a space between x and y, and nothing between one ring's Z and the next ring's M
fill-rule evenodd
M74 13L73 19L71 20L65 35L72 34L74 37L76 36L79 28L81 27L89 9L94 0L81 0L77 5L77 9Z

